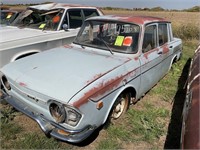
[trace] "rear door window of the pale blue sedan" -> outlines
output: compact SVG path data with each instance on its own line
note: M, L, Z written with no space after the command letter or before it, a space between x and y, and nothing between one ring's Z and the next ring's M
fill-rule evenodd
M158 25L159 46L168 42L167 24Z

